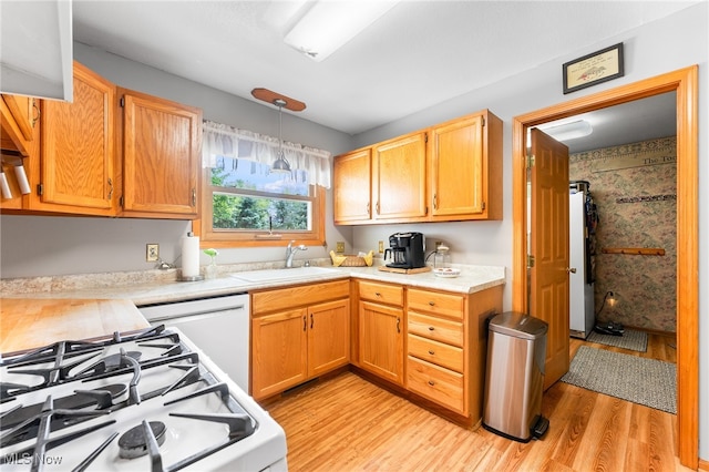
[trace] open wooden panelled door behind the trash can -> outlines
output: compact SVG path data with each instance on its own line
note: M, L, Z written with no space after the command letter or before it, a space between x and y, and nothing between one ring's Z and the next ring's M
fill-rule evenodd
M548 324L544 389L568 371L568 147L532 130L530 315Z

